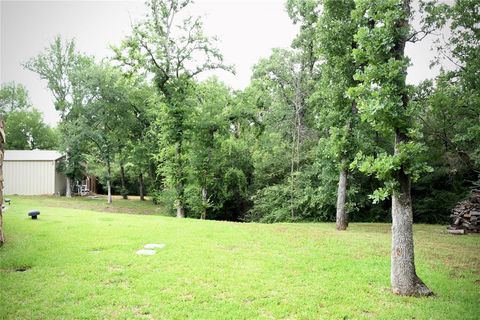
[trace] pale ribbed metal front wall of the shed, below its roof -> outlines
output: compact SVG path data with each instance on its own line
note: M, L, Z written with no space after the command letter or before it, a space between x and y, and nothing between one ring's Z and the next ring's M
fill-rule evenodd
M55 161L5 161L4 194L55 194Z

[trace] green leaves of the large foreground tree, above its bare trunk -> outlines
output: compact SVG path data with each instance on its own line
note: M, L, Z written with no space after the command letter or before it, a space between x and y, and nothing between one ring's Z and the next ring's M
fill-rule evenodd
M381 152L365 156L357 154L353 166L375 175L384 182L372 198L384 200L398 187L398 173L403 172L413 181L431 168L421 161L425 147L418 141L412 117L415 115L409 103L411 92L406 86L408 58L404 56L406 39L410 33L409 12L399 10L398 1L357 1L353 17L361 21L355 35L357 48L353 57L358 65L355 79L357 86L349 90L356 98L362 120L373 130L386 136L395 135L393 155Z

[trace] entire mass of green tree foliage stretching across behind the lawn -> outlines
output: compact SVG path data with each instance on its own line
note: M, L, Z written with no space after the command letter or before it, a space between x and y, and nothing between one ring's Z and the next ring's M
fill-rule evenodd
M71 179L94 173L116 193L143 190L171 213L262 222L333 220L342 170L353 220L388 221L385 200L400 171L413 181L416 221L445 221L478 181L475 1L422 1L413 30L397 0L288 0L299 27L291 48L261 59L237 92L196 78L232 67L188 15L190 4L149 1L111 61L97 63L57 37L25 64L60 111L59 149L68 154L60 169ZM458 68L405 85L409 60L398 40L419 41L447 22L453 32L438 50ZM7 143L56 146L24 87L5 84L0 93L12 119Z

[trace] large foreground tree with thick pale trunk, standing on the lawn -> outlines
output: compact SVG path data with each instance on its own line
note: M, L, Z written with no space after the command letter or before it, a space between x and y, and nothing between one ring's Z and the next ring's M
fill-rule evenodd
M391 285L400 295L431 295L415 270L411 181L427 168L419 160L423 146L416 142L406 85L408 58L405 45L412 30L410 0L357 0L354 17L362 24L355 35L354 58L359 69L358 97L361 117L374 130L393 134L394 153L364 157L360 169L375 174L385 187L377 200L392 195Z

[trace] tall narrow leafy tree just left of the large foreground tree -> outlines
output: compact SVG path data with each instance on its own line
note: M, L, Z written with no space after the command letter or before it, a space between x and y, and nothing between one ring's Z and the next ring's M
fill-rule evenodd
M324 0L322 4L318 36L324 64L319 90L324 106L319 110L319 125L330 128L326 144L339 171L336 227L345 230L348 226L348 166L356 152L353 131L356 130L357 108L355 101L346 94L355 85L356 65L351 54L357 28L351 16L355 3L353 0Z

